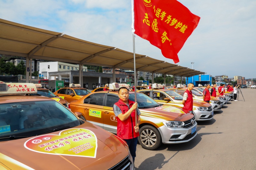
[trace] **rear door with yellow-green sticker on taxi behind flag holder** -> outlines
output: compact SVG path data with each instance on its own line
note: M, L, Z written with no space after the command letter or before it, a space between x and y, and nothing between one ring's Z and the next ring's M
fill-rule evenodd
M103 100L105 93L95 93L84 99L83 110L87 122L103 128Z

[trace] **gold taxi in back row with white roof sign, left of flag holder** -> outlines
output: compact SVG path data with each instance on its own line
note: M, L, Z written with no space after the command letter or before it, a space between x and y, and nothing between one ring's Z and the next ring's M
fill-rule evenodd
M83 96L92 93L90 90L81 88L80 84L69 84L69 87L61 88L55 91L53 94L56 96L65 99L68 103L77 101L78 99L82 98Z

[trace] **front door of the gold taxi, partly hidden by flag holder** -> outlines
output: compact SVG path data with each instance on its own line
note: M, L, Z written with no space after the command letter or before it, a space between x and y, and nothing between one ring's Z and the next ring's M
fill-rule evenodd
M117 119L115 113L113 111L113 106L116 102L118 102L119 97L115 94L107 94L106 98L106 106L103 108L103 129L106 131L110 131L116 134L117 130Z

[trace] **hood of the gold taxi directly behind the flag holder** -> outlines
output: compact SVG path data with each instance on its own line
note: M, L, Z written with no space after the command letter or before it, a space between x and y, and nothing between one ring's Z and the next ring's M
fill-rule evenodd
M155 117L163 120L186 121L194 117L193 114L170 105L162 105L149 109L140 109L143 116Z

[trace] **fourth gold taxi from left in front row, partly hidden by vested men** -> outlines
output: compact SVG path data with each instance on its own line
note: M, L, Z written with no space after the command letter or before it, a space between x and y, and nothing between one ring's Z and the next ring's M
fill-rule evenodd
M178 87L177 89L173 88L173 89L170 89L170 90L175 91L178 94L180 94L181 96L183 96L184 92L188 88L183 88L182 85L180 86L181 88L179 88L178 85L177 85L177 87ZM192 96L194 98L193 100L195 100L195 101L204 101L203 95L201 93L199 93L196 89L192 90ZM221 110L222 105L221 105L220 99L211 96L210 104L212 105L213 110Z

